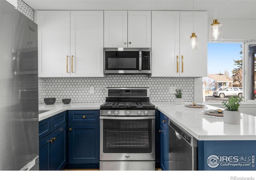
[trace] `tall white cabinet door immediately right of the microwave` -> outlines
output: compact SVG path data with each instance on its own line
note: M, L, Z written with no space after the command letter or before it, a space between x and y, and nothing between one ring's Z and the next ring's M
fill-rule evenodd
M152 11L152 77L178 77L180 12Z

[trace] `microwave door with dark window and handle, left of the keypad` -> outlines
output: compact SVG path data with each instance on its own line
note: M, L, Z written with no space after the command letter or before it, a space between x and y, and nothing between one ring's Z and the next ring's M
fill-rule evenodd
M142 73L141 51L105 51L104 73Z

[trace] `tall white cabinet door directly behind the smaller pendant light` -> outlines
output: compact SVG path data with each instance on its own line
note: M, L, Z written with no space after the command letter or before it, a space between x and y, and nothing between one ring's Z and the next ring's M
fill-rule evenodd
M193 13L180 12L180 76L207 76L207 12L194 12L194 32L198 37L198 50L192 50ZM183 72L182 72L183 56Z

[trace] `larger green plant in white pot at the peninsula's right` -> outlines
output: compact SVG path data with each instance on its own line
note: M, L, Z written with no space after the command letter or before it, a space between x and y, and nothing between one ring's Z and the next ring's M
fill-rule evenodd
M228 102L222 102L223 106L226 107L226 110L223 111L224 122L228 124L240 124L241 112L238 108L242 98L243 97L231 96L228 98Z

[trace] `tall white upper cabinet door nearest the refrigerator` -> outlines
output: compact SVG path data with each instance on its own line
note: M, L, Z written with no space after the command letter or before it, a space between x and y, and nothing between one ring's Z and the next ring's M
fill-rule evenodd
M37 11L37 23L38 77L70 77L70 11Z

